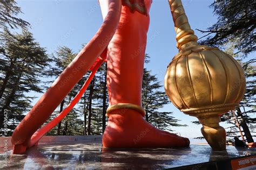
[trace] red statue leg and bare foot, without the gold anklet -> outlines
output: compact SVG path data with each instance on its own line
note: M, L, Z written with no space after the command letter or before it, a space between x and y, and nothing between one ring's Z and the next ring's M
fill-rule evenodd
M107 1L100 1L104 8ZM106 3L106 4L105 4ZM146 1L147 9L151 0ZM141 105L144 55L149 16L131 13L122 6L119 26L108 46L107 87L110 105ZM111 112L104 135L104 147L171 147L188 146L187 138L154 128L139 112L119 109Z

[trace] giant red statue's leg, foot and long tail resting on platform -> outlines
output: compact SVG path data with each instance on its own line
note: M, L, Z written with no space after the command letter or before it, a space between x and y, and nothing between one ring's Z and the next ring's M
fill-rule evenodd
M187 138L159 130L143 118L141 92L151 3L151 0L99 1L104 23L17 126L12 134L14 153L23 153L26 148L36 145L68 114L105 59L110 107L107 109L109 122L103 134L103 146L171 147L190 144ZM73 101L39 129L89 69L92 73Z

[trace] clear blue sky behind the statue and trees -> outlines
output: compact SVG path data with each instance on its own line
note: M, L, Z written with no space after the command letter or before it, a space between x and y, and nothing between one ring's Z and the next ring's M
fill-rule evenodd
M213 10L208 6L210 0L183 0L183 5L192 29L206 30L217 20ZM36 41L46 47L48 53L56 51L58 46L68 46L78 52L82 44L88 42L103 23L102 14L97 0L35 0L18 1L23 14L19 15L28 21L30 30ZM146 53L151 62L145 67L156 74L164 84L166 67L172 57L178 53L176 48L176 33L167 0L153 0L150 11L151 23L148 32ZM164 90L164 88L162 88ZM40 96L40 94L33 94ZM35 101L36 102L36 101ZM173 127L181 136L193 138L201 136L201 125L194 125L191 121L197 118L184 115L174 105L166 105L163 111L172 111L173 116L180 119L180 124L188 127ZM225 123L221 123L224 127Z

